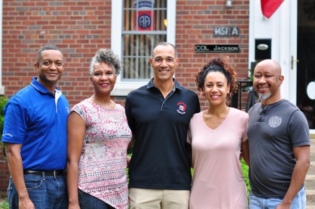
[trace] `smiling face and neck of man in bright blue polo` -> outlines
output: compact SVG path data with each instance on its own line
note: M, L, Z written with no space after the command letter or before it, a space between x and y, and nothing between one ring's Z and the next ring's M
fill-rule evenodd
M48 90L55 92L57 81L63 75L63 54L58 50L42 51L34 67L38 73L37 81Z

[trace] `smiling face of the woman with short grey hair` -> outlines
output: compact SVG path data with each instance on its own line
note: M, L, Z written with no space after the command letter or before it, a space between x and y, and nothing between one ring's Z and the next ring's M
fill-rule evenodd
M114 89L117 76L113 67L105 62L97 62L93 67L93 76L90 81L94 85L95 93L109 93Z

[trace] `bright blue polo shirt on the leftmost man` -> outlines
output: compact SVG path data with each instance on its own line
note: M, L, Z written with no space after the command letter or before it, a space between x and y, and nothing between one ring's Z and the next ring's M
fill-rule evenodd
M24 170L63 170L66 163L66 122L69 104L33 78L4 107L2 142L22 144Z

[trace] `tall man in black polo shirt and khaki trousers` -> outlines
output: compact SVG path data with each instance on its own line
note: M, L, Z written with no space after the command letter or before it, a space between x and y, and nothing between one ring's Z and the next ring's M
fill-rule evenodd
M126 98L126 116L135 141L129 164L131 209L188 209L190 161L186 143L198 96L174 78L176 47L158 43L150 58L154 78Z

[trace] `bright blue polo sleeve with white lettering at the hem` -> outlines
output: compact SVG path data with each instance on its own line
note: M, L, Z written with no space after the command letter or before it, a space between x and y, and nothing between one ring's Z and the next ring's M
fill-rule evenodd
M4 124L2 142L23 144L29 128L30 116L26 105L17 97L12 97L3 110Z

